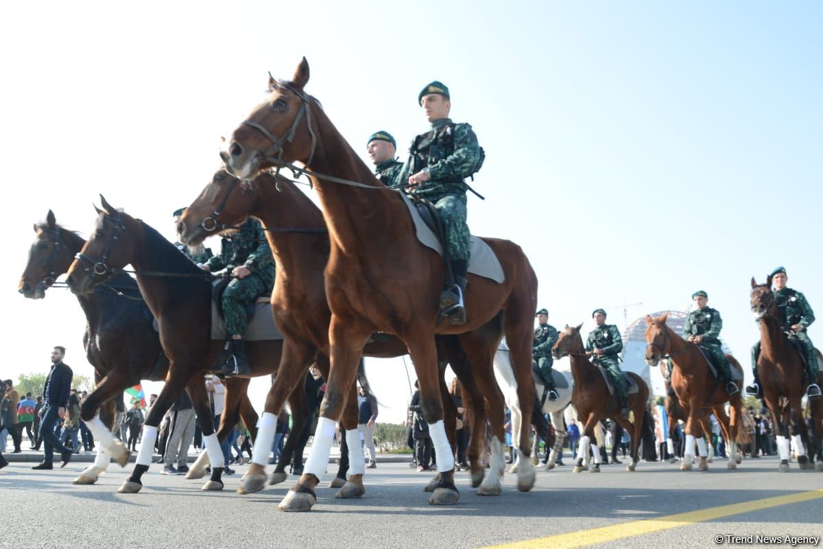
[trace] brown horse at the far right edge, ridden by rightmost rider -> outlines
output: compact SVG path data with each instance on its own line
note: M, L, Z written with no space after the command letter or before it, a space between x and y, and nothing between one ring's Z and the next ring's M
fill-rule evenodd
M801 469L813 469L815 465L806 455L809 439L801 405L804 395L802 380L806 368L802 356L780 329L777 304L771 290L771 279L770 275L766 278L765 284L757 284L754 277L751 278L751 312L755 314L760 324L760 357L757 359L757 376L763 388L763 400L774 421L774 433L780 456L779 471L789 471L788 459L791 453L789 435L792 436L797 449L797 464ZM818 376L817 384L821 384L821 381L823 381L823 373ZM823 449L821 449L823 398L812 399L810 406L817 445L814 451L810 450L810 454L812 457L816 454L817 470L823 471Z

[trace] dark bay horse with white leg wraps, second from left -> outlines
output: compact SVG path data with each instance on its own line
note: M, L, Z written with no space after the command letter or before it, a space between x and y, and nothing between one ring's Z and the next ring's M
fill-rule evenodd
M160 344L170 361L165 386L146 417L137 465L119 491L132 493L142 488L141 477L151 463L157 426L184 389L197 413L212 462L212 477L203 489L221 490L225 463L203 383L222 345L210 337L211 282L160 233L100 198L104 209L98 210L95 230L68 270L67 285L78 295L88 295L131 264L143 299L160 325ZM281 347L281 341L249 342L249 377L276 371ZM98 438L104 440L100 435Z

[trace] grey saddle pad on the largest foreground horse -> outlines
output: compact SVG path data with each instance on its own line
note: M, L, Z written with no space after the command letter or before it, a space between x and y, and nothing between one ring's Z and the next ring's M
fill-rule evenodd
M400 193L400 196L408 207L409 215L412 216L417 240L426 248L435 250L440 254L440 257L446 258L444 253L446 246L443 244L442 237L444 235L442 221L440 221L439 213L434 205L421 198L417 198L418 202L414 202L405 193ZM425 221L426 219L429 221ZM472 235L469 240L469 251L468 272L476 274L478 277L488 278L498 284L502 284L506 280L503 266L500 265L500 259L497 258L494 250L491 249L489 244L486 244L485 240Z

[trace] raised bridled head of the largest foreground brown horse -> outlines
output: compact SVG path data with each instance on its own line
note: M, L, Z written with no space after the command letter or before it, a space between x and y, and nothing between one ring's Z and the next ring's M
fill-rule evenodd
M254 179L266 168L309 163L316 142L311 120L311 103L316 100L303 91L308 81L305 58L291 81L269 74L267 99L254 107L220 153L230 174Z

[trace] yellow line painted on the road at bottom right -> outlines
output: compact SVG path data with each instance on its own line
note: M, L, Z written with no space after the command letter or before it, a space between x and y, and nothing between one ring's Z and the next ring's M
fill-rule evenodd
M556 536L537 537L523 542L504 543L487 549L537 549L551 547L551 549L565 549L565 547L586 547L596 543L611 542L624 537L640 536L646 533L659 532L668 528L677 528L693 523L702 523L707 520L722 519L734 514L751 513L760 509L779 507L801 501L810 501L823 498L823 490L798 492L797 494L777 495L762 500L743 501L732 505L721 505L688 513L670 514L655 519L633 520L628 523L614 524L602 528L591 528L577 532L561 533Z

